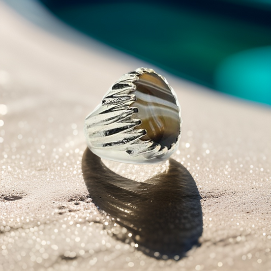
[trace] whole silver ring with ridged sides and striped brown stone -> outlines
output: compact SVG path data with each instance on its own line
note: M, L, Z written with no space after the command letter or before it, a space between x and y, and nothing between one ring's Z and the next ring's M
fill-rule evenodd
M87 115L87 146L101 158L130 164L159 163L178 147L182 118L177 96L152 69L124 74Z

